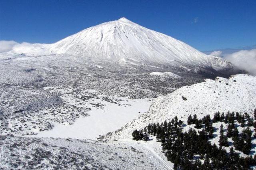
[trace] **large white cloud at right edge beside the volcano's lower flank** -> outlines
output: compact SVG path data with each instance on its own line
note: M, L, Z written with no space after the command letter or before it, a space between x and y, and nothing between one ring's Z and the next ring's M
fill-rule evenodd
M240 69L256 75L256 49L241 50L235 53L227 54L224 59L230 61Z

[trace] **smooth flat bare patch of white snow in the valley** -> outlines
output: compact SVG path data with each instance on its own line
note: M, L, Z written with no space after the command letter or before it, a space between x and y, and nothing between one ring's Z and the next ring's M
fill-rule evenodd
M105 105L104 108L92 107L87 112L90 116L78 118L73 125L55 123L52 130L38 132L36 137L96 139L101 134L121 128L150 107L149 99L120 99L120 105L94 99L94 102Z

